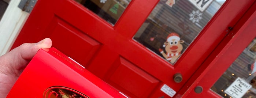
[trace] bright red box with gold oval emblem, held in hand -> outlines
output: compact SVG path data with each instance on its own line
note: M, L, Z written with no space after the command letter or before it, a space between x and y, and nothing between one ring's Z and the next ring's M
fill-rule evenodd
M127 98L55 48L40 49L7 98Z

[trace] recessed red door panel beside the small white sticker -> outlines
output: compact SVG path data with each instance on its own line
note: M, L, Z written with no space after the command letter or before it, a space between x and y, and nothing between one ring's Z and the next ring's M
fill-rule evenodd
M116 59L105 79L116 88L126 91L126 94L130 93L129 96L139 98L148 97L160 82L123 57Z

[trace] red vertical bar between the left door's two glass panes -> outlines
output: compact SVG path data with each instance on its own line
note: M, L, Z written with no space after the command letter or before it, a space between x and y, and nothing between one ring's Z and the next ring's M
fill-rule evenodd
M125 38L132 39L158 2L159 0L131 0L115 24L116 32Z

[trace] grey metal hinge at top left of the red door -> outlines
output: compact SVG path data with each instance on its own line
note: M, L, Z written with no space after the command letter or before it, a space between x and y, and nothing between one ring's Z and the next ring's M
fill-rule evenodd
M22 11L30 13L36 5L36 2L37 0L21 0L18 7L21 8Z

